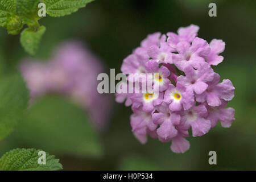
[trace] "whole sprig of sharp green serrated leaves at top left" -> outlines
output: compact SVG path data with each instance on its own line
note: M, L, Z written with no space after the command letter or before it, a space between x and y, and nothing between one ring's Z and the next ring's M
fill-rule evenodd
M24 29L20 42L23 48L35 55L40 39L46 28L40 26L38 20L39 3L46 5L46 13L49 16L60 17L76 12L81 7L93 0L0 0L0 26L7 29L8 34L16 35L22 30L24 24L28 28Z

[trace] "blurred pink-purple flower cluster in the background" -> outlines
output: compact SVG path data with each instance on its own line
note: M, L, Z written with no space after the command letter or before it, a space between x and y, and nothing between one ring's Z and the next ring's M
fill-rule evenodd
M82 43L64 43L47 63L26 60L20 69L30 90L31 103L52 93L68 97L86 110L94 126L104 129L112 98L97 92L97 76L105 68Z

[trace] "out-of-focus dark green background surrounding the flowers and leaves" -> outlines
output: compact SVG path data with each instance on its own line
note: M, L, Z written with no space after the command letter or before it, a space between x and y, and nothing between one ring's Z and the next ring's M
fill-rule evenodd
M210 2L217 4L217 17L208 16ZM56 155L64 170L255 170L255 5L255 1L236 0L97 0L72 15L43 18L40 23L47 31L36 59L47 60L59 43L77 39L118 72L122 60L148 34L198 25L200 38L226 43L224 61L214 71L222 79L229 78L236 88L228 104L236 109L236 121L229 129L218 124L203 137L188 138L191 148L185 154L175 154L170 143L149 139L142 145L133 137L130 107L115 104L109 126L98 134L85 122L77 106L49 96L39 101L28 112L26 121L0 142L0 154L16 147L42 148ZM28 56L19 44L19 35L7 35L0 28L0 40L0 61L7 63L5 69L16 68ZM217 165L211 166L208 152L212 150L217 152Z

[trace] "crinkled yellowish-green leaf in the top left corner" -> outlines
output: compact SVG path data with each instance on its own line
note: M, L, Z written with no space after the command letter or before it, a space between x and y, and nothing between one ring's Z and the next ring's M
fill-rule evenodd
M6 28L8 34L13 35L22 29L22 19L16 15L14 0L0 0L0 26Z

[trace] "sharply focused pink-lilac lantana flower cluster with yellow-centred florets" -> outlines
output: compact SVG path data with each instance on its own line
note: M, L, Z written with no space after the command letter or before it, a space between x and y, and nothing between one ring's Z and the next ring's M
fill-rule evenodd
M180 27L177 34L160 32L148 35L141 46L123 60L121 71L157 73L153 82L159 85L158 94L119 93L116 101L131 106L132 131L141 142L147 136L161 142L171 142L171 150L183 153L190 147L187 137L207 134L221 122L230 127L234 109L226 108L234 97L234 86L228 79L220 82L213 66L222 62L219 54L225 49L222 40L209 44L197 36L199 27L191 24ZM134 81L129 80L127 81ZM137 80L138 81L138 80ZM154 85L153 85L154 86Z

